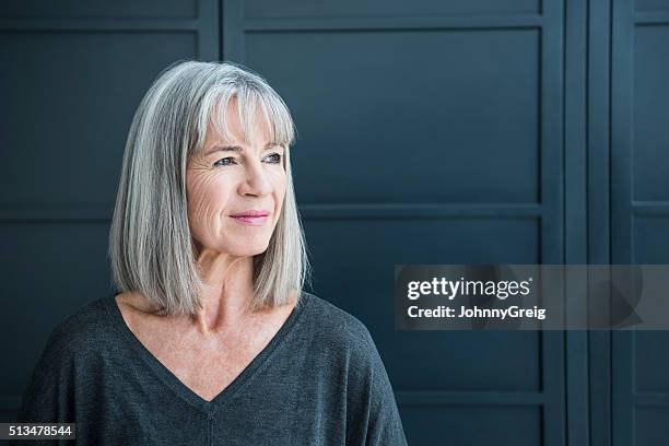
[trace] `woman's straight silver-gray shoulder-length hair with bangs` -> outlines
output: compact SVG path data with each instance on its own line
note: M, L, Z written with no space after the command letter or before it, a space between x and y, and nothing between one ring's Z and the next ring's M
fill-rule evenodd
M254 256L254 310L289 303L310 280L291 174L295 128L287 106L257 73L231 62L183 61L168 67L142 98L128 134L109 231L113 282L139 292L163 315L195 315L203 282L196 265L186 202L186 166L212 124L225 137L235 98L245 138L257 107L272 142L284 146L286 191L265 253Z

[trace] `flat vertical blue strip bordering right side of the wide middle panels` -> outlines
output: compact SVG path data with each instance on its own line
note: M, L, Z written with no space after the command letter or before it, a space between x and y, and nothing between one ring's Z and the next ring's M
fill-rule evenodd
M564 174L564 36L565 4L542 2L540 31L540 201L543 218L540 228L540 256L543 265L564 263L565 256L565 174ZM562 331L540 331L542 445L567 443L565 336Z

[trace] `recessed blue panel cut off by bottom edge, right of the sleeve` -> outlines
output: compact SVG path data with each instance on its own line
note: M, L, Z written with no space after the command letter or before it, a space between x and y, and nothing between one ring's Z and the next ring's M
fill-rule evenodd
M402 407L410 445L537 446L541 441L538 407Z

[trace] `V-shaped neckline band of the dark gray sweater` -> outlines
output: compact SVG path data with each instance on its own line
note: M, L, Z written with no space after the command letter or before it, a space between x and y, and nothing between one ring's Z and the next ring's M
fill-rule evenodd
M153 353L134 336L130 327L126 324L124 315L116 302L116 296L119 293L114 293L107 296L106 309L114 321L115 327L122 332L122 337L126 339L128 344L133 348L142 360L153 369L159 376L163 384L167 385L186 402L199 409L206 413L210 419L213 413L221 407L225 406L233 396L248 382L263 364L268 362L271 354L284 341L289 332L292 331L296 325L300 316L304 313L304 308L310 301L310 295L303 292L301 298L297 301L295 307L293 307L291 314L285 319L279 331L268 342L268 344L251 360L251 362L239 373L223 390L221 390L213 399L207 401L200 397L188 386L186 386L177 376L169 371L162 362L154 356Z

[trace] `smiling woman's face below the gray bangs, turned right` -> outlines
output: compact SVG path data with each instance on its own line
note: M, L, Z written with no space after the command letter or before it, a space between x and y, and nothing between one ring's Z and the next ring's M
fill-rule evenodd
M279 221L286 187L285 151L272 144L260 114L249 138L255 145L246 143L236 107L231 99L227 138L209 125L204 148L188 162L186 192L198 251L244 257L267 250Z

